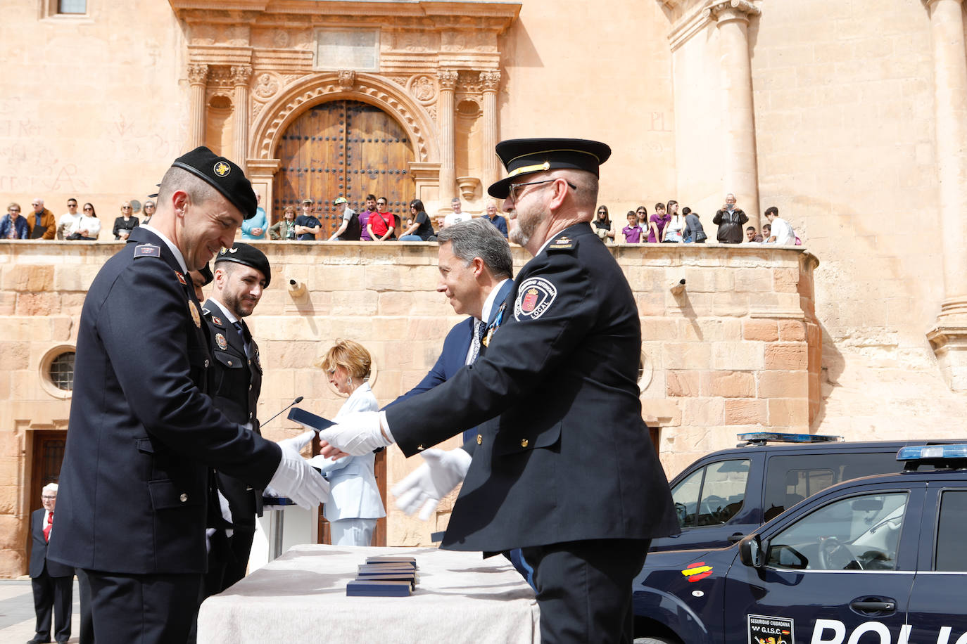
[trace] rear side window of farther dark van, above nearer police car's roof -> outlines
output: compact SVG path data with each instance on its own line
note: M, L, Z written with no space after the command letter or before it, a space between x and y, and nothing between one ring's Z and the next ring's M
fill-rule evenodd
M771 457L766 466L764 520L776 518L806 497L840 481L897 472L899 469L895 452Z

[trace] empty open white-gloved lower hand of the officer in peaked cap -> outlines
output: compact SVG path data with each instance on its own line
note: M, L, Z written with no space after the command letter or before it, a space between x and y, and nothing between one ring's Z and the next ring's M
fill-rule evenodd
M421 520L433 515L440 499L463 482L471 457L460 448L444 452L429 449L423 453L424 464L393 487L396 507L406 515L420 510Z

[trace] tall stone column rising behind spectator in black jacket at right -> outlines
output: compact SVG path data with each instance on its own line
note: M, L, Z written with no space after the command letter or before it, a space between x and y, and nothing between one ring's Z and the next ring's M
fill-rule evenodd
M722 193L732 192L749 223L759 225L759 171L755 158L752 111L752 64L748 55L748 21L761 14L747 0L725 0L705 10L718 24L721 55L724 158Z

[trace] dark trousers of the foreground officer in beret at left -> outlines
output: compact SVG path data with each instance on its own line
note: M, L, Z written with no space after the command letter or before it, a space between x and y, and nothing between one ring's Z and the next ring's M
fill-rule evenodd
M99 642L185 644L198 612L201 574L85 570Z

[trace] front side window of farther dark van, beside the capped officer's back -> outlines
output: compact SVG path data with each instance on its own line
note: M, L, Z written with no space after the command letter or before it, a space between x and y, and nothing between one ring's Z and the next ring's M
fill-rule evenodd
M671 491L681 527L721 525L746 500L748 459L713 462L697 469Z

